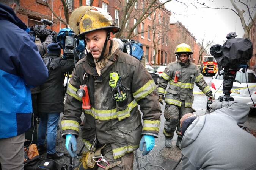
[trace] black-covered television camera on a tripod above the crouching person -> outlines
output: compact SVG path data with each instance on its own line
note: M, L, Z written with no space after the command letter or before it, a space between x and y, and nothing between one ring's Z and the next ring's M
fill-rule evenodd
M219 75L223 75L224 80L222 90L224 95L218 98L220 102L234 101L230 94L236 73L242 70L246 74L247 62L253 53L252 43L249 39L236 37L236 32L231 32L227 34L227 40L222 46L215 44L210 48L210 54L216 59L219 70L223 69L222 73L218 71Z

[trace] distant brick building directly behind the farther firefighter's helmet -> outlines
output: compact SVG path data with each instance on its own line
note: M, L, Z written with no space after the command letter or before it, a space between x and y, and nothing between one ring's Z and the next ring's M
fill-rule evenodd
M198 44L196 44L196 38L191 34L187 28L185 28L184 25L182 25L181 22L176 23L170 23L170 33L169 36L171 39L169 39L169 47L170 47L170 56L169 61L173 62L176 60L176 56L174 54L175 48L177 45L181 43L186 43L190 45L190 47L193 50L193 55L190 58L190 62L195 62L196 58L199 57L199 50ZM195 57L194 57L195 55Z

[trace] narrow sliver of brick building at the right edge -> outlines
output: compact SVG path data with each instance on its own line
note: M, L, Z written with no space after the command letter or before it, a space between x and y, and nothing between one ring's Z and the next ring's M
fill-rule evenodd
M250 69L256 71L256 21L254 20L253 26L250 29L250 39L253 43L253 57L249 61Z

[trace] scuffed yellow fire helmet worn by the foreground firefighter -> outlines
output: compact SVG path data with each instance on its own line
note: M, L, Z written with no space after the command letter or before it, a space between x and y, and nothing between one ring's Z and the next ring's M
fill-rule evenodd
M86 33L99 29L107 29L113 34L121 30L115 26L108 12L95 6L80 6L75 9L69 17L69 26L79 39L83 39Z

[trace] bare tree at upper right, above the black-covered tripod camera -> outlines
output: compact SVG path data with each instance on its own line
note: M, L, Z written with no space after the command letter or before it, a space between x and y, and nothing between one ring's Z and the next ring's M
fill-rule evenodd
M256 3L255 5L252 7L252 10L251 7L250 7L250 3L251 3L251 0L249 2L249 0L238 0L237 2L235 2L234 0L230 0L232 6L234 7L234 9L232 8L214 8L214 7L210 7L208 5L206 5L206 3L203 3L203 2L199 2L199 0L197 0L197 3L199 3L200 5L202 5L203 7L198 7L196 5L193 5L195 6L196 8L211 8L211 9L228 9L228 10L231 10L233 11L239 18L240 18L240 21L242 23L242 27L243 27L243 30L244 30L244 38L249 38L249 31L251 29L251 27L253 26L253 22L255 21L256 19L256 13L254 12L254 9L256 7ZM252 2L255 2L254 0ZM247 9L247 12L248 12L248 15L249 15L249 20L250 23L247 25L246 22L245 22L245 10L241 10L237 7L236 3L241 3L242 5L244 5ZM253 15L254 13L254 15ZM253 15L253 16L252 16Z

